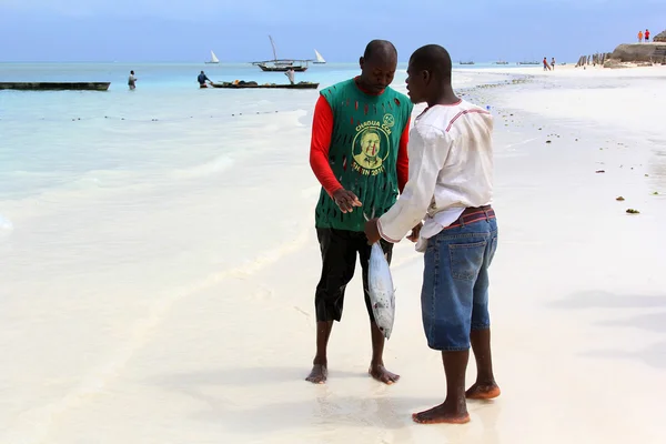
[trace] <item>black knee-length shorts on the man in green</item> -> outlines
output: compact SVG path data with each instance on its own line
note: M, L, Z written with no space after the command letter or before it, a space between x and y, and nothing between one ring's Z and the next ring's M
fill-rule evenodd
M314 294L317 322L340 321L342 319L344 290L354 276L356 254L359 254L363 271L365 307L371 321L374 322L367 293L367 264L370 262L371 246L367 244L365 233L335 229L316 229L316 236L322 252L322 275ZM380 243L387 256L389 263L391 263L393 244L383 239Z

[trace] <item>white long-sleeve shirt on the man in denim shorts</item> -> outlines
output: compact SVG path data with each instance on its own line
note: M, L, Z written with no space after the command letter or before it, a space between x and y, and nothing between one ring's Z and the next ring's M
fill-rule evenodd
M380 234L400 242L418 222L417 251L468 206L492 203L493 117L461 100L434 105L414 120L407 145L408 181L397 202L379 220Z

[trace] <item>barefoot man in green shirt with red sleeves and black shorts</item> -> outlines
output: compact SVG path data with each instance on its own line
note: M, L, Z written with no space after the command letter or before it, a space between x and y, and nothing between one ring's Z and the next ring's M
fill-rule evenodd
M384 367L384 335L374 321L367 293L371 246L363 226L364 214L384 214L407 181L407 138L414 105L389 87L397 65L393 43L371 41L360 65L361 75L320 92L312 123L310 164L322 185L314 216L322 272L314 294L316 353L306 381L316 384L327 377L329 337L333 321L342 317L345 287L354 275L357 255L371 325L369 373L385 384L400 377ZM392 246L382 242L390 262Z

